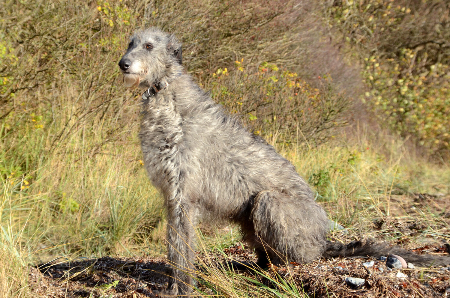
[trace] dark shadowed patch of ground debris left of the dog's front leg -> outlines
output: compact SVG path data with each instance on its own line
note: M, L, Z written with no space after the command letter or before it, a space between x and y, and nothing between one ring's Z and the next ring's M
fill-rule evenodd
M167 287L166 263L150 258L56 260L32 268L32 289L44 297L155 297Z

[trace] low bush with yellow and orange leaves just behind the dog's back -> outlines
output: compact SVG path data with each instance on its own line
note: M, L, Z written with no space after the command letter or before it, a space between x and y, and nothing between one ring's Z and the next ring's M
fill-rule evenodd
M334 90L325 76L313 88L297 73L263 62L255 69L236 60L231 71L211 74L212 97L243 116L255 133L284 144L306 141L310 146L333 138L347 125L350 100Z

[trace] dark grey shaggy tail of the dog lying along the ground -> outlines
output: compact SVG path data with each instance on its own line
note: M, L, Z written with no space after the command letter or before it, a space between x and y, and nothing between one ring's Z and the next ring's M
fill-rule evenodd
M446 245L447 251L450 251L450 245ZM450 256L435 256L427 254L416 254L411 251L402 249L398 246L390 246L386 242L377 242L375 240L352 241L349 244L341 244L327 241L327 248L324 252L324 258L335 257L362 257L370 256L379 258L387 257L390 254L396 254L418 266L450 265Z

